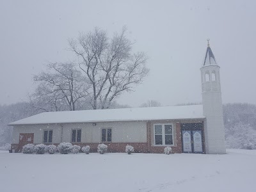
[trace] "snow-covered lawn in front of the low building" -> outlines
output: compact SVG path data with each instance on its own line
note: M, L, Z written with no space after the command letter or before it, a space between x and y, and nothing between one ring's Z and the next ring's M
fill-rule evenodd
M256 150L204 154L0 153L0 191L256 191Z

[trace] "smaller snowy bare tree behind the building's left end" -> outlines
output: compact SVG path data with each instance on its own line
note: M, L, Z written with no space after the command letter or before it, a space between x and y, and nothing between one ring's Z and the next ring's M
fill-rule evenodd
M33 79L38 86L29 98L31 105L42 111L75 111L88 95L86 77L74 63L49 63L47 71Z

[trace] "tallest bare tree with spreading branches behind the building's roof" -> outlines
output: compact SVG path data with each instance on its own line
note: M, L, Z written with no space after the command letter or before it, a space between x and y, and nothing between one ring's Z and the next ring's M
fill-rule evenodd
M70 51L79 58L79 67L90 82L90 99L93 109L109 108L111 102L123 92L133 91L148 74L144 52L132 53L132 42L120 34L109 39L106 31L95 28L70 39Z

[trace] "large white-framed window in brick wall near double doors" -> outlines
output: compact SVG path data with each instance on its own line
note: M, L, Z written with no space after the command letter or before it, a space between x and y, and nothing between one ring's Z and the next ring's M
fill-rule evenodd
M172 124L154 125L154 144L155 145L173 145Z

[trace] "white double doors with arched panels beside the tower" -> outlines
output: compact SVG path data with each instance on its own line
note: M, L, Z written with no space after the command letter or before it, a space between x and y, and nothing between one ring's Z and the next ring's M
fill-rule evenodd
M202 153L202 131L183 130L182 144L185 153Z

